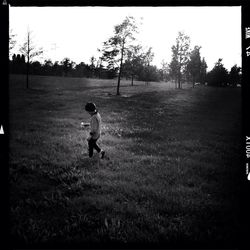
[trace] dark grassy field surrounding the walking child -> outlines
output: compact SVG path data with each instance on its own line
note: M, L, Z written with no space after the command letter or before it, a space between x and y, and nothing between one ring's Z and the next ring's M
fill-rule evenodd
M240 90L122 81L116 96L115 85L32 76L27 90L10 75L13 242L236 247ZM87 101L103 160L87 155Z

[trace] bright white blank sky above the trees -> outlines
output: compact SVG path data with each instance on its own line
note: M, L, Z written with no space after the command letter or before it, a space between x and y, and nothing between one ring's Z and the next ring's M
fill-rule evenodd
M208 70L219 58L230 70L241 66L241 7L10 7L9 27L17 41L13 53L32 31L34 44L43 47L40 60L90 64L97 49L114 34L114 26L126 16L138 22L137 39L145 49L152 47L153 65L171 61L171 47L179 31L190 37L191 48L201 46Z

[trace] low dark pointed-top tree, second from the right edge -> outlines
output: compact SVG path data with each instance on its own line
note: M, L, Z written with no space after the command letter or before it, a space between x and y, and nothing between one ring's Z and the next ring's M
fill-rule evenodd
M215 63L214 68L207 74L208 84L211 86L226 86L228 83L228 71L222 64L222 59Z

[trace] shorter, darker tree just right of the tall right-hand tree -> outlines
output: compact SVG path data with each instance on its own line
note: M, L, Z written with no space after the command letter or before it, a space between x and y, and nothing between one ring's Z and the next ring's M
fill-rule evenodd
M187 63L187 72L191 75L193 88L195 82L200 80L201 73L201 56L200 56L200 46L195 46L190 53L190 59Z

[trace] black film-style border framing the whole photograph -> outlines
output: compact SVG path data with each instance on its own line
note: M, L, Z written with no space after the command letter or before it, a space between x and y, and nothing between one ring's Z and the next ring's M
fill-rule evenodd
M7 5L5 5L7 3ZM250 52L250 39L246 39L246 28L250 28L250 3L247 0L165 0L165 1L139 1L139 0L0 0L0 31L1 31L1 46L0 46L0 71L1 71L1 85L0 85L0 126L4 128L4 135L0 135L0 164L1 164L1 177L2 177L2 188L1 188L1 204L2 204L2 217L1 217L1 245L4 248L14 249L13 245L17 246L14 242L10 242L9 239L9 195L8 195L8 141L9 141L9 105L8 105L8 57L9 57L9 5L10 6L241 6L242 7L242 74L243 74L243 84L242 84L242 162L239 164L239 171L242 174L241 183L241 222L242 230L239 232L239 247L238 249L247 248L248 243L248 227L249 227L249 216L248 211L250 211L250 205L248 200L250 200L250 181L246 178L246 164L250 163L250 159L246 156L246 136L250 137L250 121L248 116L249 103L250 103L250 56L247 56L247 51ZM229 51L230 53L230 51ZM250 170L249 170L250 171ZM2 223L4 222L4 223ZM31 249L27 246L17 246L22 249ZM36 246L36 248L43 248L44 246ZM71 246L59 246L60 249L69 249ZM74 246L75 247L75 246ZM76 246L78 249L82 246ZM97 248L104 248L104 246L96 246ZM183 246L183 248L189 249L199 249L206 248L208 246ZM46 246L45 246L46 248ZM85 249L93 248L93 246L85 246ZM105 246L105 248L119 248L119 246ZM130 246L127 247L128 249ZM132 248L146 248L150 249L151 246L132 246ZM155 247L153 247L155 248ZM160 247L164 249L164 247ZM220 248L218 246L218 248ZM16 248L15 248L16 249ZM55 246L53 249L59 249Z

